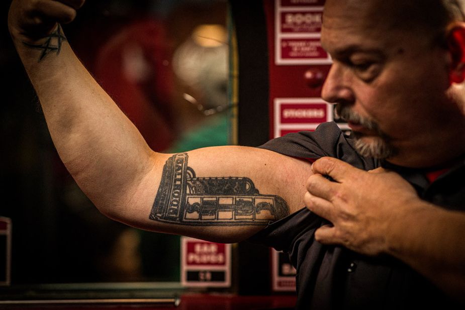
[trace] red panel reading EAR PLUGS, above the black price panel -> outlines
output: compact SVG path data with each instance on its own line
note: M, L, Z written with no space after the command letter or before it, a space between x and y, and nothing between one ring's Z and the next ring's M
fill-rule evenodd
M207 241L188 241L185 263L188 266L225 266L225 244Z

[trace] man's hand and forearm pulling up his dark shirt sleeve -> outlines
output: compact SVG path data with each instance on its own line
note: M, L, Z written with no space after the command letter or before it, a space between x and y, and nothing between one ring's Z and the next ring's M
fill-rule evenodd
M397 257L465 301L465 213L421 200L402 177L383 169L369 173L323 158L313 164L313 172L305 203L334 225L318 229L316 240Z

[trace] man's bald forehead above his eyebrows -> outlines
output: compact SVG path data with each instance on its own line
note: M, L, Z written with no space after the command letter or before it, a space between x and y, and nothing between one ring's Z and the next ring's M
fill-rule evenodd
M400 41L441 45L451 22L448 9L441 0L326 0L321 41L327 51L394 48Z

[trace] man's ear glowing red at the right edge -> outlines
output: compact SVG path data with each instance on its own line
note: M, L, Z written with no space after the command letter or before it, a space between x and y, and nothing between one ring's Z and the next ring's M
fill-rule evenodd
M450 83L461 83L465 80L465 23L452 24L446 38L451 58Z

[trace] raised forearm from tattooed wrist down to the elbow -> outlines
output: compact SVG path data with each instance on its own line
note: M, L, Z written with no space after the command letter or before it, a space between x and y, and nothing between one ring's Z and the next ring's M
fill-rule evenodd
M58 153L90 199L101 208L125 204L128 191L149 165L150 149L143 138L61 41L48 50L48 38L32 41L15 29L12 37L37 91ZM58 46L56 37L51 44Z

